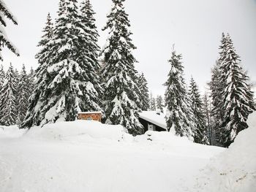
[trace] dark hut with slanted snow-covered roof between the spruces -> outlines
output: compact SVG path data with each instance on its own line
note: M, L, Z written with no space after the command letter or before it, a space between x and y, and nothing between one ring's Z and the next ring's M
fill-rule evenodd
M146 131L167 131L165 115L156 111L143 111L139 113L140 123Z

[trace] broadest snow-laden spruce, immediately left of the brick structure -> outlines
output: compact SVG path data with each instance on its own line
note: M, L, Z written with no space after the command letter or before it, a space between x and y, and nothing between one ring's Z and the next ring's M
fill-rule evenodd
M37 86L22 127L75 120L81 110L100 110L98 93L86 74L86 39L76 0L61 0L48 58L37 69ZM97 78L97 77L96 77ZM96 98L96 99L94 99Z

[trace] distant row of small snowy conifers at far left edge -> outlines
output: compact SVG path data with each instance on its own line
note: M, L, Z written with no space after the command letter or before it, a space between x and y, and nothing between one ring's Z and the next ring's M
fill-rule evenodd
M23 67L20 72L10 64L7 72L0 66L0 124L11 126L20 124L29 104L29 96L34 89L34 70L29 74Z

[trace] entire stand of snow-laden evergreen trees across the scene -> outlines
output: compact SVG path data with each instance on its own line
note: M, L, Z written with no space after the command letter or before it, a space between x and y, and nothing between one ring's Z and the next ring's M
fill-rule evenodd
M27 74L10 65L0 69L0 123L20 128L43 126L57 120L76 120L78 112L101 111L103 123L121 124L132 135L143 134L142 110L166 110L168 131L205 145L228 147L256 110L252 85L229 34L222 34L219 58L211 71L210 93L200 94L197 83L184 79L182 55L171 51L165 97L148 92L144 74L135 69L132 32L125 0L113 7L103 30L108 39L98 45L94 10L89 0L60 0L58 16L47 16L35 56L39 66ZM5 4L2 15L17 24ZM1 28L4 30L4 20ZM1 33L0 47L15 47ZM2 59L2 57L0 57Z

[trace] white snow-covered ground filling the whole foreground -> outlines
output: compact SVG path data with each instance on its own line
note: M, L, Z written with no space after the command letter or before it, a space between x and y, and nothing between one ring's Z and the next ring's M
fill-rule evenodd
M231 192L236 183L243 183L240 191L253 191L256 157L244 150L252 140L244 137L255 137L255 129L226 150L163 132L133 138L121 126L83 120L28 132L0 128L0 192Z

